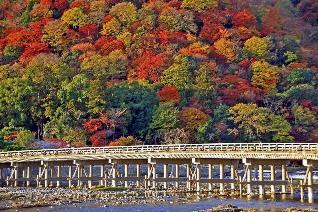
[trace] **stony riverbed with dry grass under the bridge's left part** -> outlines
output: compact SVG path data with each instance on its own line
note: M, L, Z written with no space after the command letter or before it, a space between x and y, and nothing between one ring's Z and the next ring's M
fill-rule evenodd
M129 188L108 187L107 189L103 189L102 187L98 189L89 189L86 187L0 188L0 210L56 207L63 205L73 205L76 207L79 203L84 202L94 202L104 208L124 205L172 204L172 196L174 200L177 200L178 204L189 204L209 198L220 198L219 202L222 204L226 202L227 198L231 198L231 200L241 198L239 192L231 193L230 190L228 190L229 188L227 188L223 194L220 194L217 186L214 187L214 192L210 193L204 192L207 190L206 186L202 186L203 192L201 193L189 193L184 186L175 188L170 185L168 190L163 190L162 187L159 187L157 191L144 189L142 186ZM255 192L256 191L255 189Z

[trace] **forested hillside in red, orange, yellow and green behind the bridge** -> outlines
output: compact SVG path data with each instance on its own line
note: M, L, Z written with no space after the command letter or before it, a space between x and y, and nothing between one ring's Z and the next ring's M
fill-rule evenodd
M0 148L317 142L317 0L0 0Z

